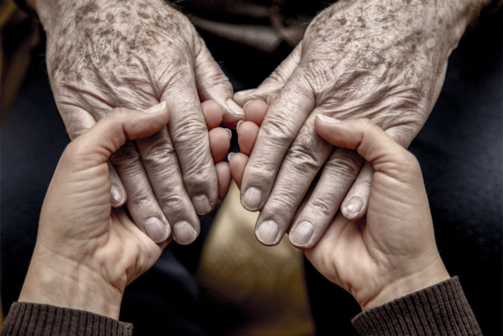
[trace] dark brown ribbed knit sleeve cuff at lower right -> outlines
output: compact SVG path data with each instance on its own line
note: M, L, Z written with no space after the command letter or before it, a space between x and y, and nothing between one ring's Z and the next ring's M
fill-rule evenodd
M360 335L482 335L459 278L358 314Z

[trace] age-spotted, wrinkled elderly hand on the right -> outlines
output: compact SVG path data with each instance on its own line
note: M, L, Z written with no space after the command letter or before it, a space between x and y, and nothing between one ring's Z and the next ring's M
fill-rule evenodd
M408 146L436 102L450 52L483 2L337 1L258 89L235 93L240 105L270 103L241 188L242 205L261 210L256 236L263 244L277 244L291 227L294 245L313 247L339 205L348 219L365 214L372 168L365 164L358 176L361 158L322 141L316 115L372 119Z

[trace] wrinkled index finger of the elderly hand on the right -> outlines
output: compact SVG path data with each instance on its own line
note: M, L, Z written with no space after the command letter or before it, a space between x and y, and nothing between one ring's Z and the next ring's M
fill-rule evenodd
M263 207L285 153L314 107L315 98L307 78L300 71L296 72L270 105L244 169L241 203L245 209L256 211ZM313 136L319 138L313 129L310 132L304 140ZM319 141L317 145L322 146ZM301 157L311 153L313 148Z

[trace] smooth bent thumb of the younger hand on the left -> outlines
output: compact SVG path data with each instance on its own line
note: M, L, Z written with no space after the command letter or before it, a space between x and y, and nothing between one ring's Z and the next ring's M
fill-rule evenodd
M169 121L166 102L144 112L115 108L100 119L89 131L70 143L72 155L77 155L90 166L106 162L126 140L145 138L157 133Z

